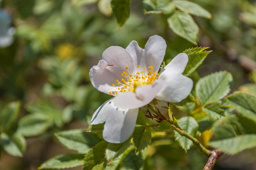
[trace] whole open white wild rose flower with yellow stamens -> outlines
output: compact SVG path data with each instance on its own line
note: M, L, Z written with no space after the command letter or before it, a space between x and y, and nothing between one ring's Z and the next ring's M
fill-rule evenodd
M190 94L193 81L182 75L189 60L187 54L178 54L158 74L165 50L165 40L154 35L145 49L136 41L126 49L107 48L98 65L90 69L92 85L115 96L102 104L91 119L91 124L105 122L103 139L110 143L126 141L134 131L139 108L154 98L177 103Z

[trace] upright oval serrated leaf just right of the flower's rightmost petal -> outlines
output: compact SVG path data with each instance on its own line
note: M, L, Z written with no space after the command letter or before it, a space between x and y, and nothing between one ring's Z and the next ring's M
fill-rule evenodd
M219 71L201 78L195 90L200 103L204 106L222 99L230 92L232 85L232 75L227 71Z

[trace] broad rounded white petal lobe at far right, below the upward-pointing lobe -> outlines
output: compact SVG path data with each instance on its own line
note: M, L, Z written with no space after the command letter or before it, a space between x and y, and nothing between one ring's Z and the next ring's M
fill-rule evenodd
M168 74L166 70L161 79L165 79L166 86L157 94L156 98L159 100L178 103L185 99L193 88L193 81L182 74Z

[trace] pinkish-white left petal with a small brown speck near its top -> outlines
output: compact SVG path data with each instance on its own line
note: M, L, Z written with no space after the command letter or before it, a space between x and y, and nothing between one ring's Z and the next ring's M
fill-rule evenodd
M109 94L110 91L114 93L117 88L113 87L112 84L117 86L116 80L121 81L123 78L121 74L123 71L127 72L126 66L128 66L131 74L136 73L136 68L129 52L118 46L107 48L103 52L102 60L99 61L98 65L90 69L89 76L92 85L103 93Z

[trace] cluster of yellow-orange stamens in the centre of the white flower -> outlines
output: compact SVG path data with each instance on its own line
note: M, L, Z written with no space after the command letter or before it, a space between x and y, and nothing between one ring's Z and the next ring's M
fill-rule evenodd
M135 89L139 86L152 84L155 79L157 79L158 73L153 73L153 67L150 66L149 71L145 72L145 67L141 69L141 66L137 66L139 68L139 72L137 72L134 76L130 74L128 70L128 66L126 66L127 72L123 72L121 76L123 79L116 80L112 86L116 87L116 91L112 93L109 92L110 95L116 96L118 92L127 92L127 91L135 91Z

